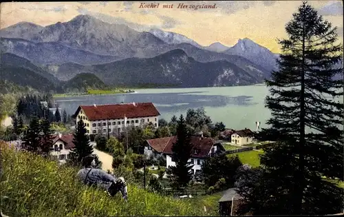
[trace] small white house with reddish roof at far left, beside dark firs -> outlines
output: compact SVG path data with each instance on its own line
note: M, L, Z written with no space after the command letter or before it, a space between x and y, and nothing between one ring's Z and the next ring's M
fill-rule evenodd
M73 143L73 134L62 135L58 134L52 138L52 151L50 155L53 156L60 163L65 163L69 158L69 152L75 147Z

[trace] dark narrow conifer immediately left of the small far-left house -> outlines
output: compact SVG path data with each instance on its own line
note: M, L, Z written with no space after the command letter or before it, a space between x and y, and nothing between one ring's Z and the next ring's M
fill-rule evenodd
M41 120L41 154L47 156L52 148L52 134L53 130L50 128L50 122L47 118Z

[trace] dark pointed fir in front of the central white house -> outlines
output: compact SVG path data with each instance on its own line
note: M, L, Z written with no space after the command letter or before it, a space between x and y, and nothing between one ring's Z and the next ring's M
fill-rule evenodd
M177 127L177 141L172 146L172 157L175 161L175 166L170 167L173 185L175 187L185 187L191 180L191 168L193 165L189 163L193 150L193 145L190 143L189 133L186 131L186 123L183 115L180 115Z

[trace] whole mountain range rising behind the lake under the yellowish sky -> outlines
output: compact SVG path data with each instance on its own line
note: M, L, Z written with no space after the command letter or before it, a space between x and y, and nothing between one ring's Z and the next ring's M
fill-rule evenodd
M80 73L95 74L107 85L249 85L268 78L278 57L250 39L233 47L202 46L175 32L138 32L89 15L45 27L21 22L1 29L0 37L6 78L16 80L8 72L21 68L54 85Z

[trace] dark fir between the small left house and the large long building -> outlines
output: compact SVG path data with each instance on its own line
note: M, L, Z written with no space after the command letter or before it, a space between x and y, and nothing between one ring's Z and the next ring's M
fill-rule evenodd
M82 163L83 158L93 153L93 147L89 143L87 130L82 119L78 121L76 131L74 133L73 143L75 147L72 149L72 156L74 156L74 163Z

